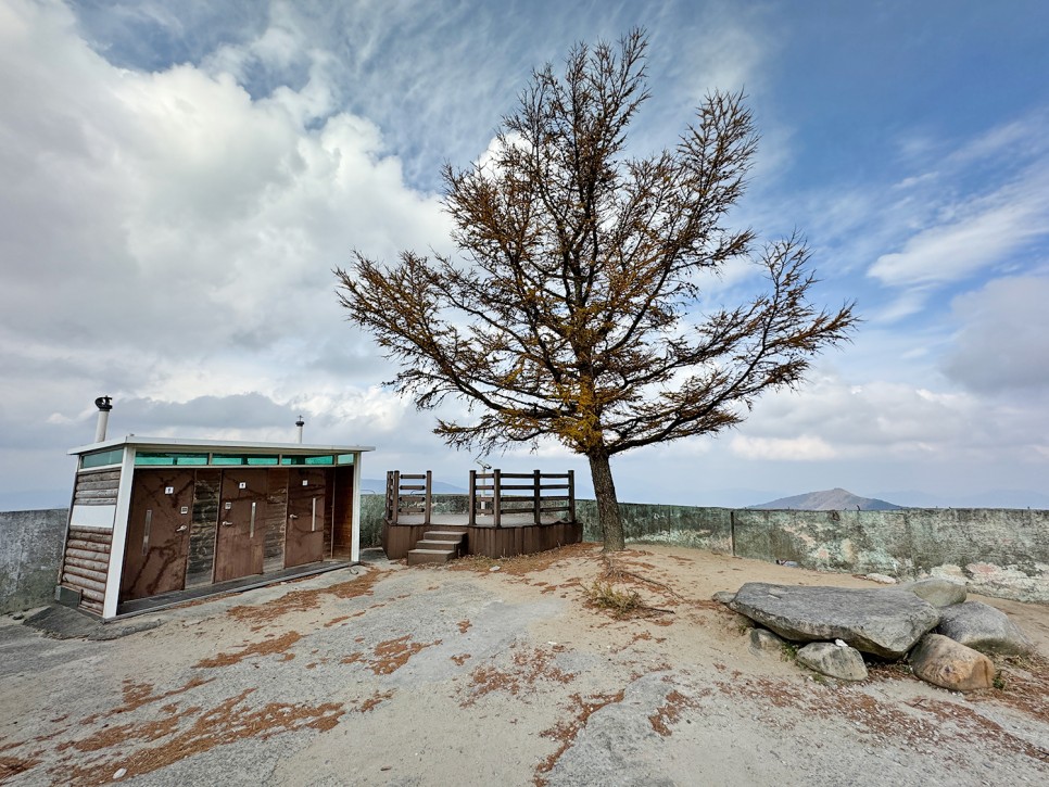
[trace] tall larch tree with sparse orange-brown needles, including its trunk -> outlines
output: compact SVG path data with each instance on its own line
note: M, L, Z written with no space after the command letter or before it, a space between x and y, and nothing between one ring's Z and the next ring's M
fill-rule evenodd
M334 271L350 320L400 364L399 393L469 404L470 422L439 420L448 444L552 436L586 456L606 550L623 548L610 457L740 423L856 321L852 304L807 301L798 237L756 247L724 226L757 145L742 94L708 96L672 149L625 153L646 47L642 30L578 45L563 76L533 73L490 161L445 165L462 256L354 252ZM762 269L761 294L704 304L699 275L740 258Z

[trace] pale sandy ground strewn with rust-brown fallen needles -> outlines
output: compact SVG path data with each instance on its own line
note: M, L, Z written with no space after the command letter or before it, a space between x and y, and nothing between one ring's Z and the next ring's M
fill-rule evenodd
M709 600L747 581L865 580L673 547L610 568L593 545L376 559L108 642L0 619L0 783L1049 783L1049 607L983 599L1040 656L963 696L899 665L819 678L753 653L744 619ZM647 609L589 605L598 580Z

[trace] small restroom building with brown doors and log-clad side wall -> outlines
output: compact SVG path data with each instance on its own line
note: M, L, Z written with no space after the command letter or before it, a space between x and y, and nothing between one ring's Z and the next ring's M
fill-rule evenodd
M359 558L370 446L99 436L69 450L64 604L109 620Z

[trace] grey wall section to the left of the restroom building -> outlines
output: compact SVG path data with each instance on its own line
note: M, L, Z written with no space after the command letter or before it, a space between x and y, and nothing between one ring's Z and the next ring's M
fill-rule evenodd
M0 613L54 600L69 511L0 512Z

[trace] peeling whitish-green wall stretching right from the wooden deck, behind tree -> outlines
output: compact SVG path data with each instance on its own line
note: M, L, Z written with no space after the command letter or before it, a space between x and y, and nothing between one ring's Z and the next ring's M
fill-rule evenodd
M998 598L1049 604L1049 511L905 508L766 511L621 504L628 541L695 546L802 568L948 576ZM584 537L598 541L596 506L580 500Z

